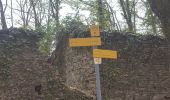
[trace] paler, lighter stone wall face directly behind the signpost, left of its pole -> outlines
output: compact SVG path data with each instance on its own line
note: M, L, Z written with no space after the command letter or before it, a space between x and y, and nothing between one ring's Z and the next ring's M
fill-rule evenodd
M94 96L95 70L90 51L91 49L87 48L66 49L66 84L89 96Z

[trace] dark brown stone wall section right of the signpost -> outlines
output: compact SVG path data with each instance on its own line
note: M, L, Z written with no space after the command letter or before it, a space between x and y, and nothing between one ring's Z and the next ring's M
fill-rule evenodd
M170 96L170 52L166 41L150 35L115 34L111 37L114 38L108 40L119 51L119 59L111 66L117 70L117 75L103 88L111 88L104 94L115 100L167 100ZM103 74L103 80L107 76Z

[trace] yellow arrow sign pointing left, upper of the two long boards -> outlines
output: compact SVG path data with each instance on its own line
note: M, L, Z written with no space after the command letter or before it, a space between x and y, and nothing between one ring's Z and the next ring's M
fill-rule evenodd
M69 46L70 47L79 47L79 46L97 46L101 45L100 37L92 38L70 38Z

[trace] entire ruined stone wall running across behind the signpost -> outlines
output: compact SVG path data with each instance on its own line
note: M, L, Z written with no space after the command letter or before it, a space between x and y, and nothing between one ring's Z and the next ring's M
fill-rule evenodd
M101 37L101 48L119 52L117 60L103 59L100 65L104 100L170 99L170 52L164 39L130 33ZM32 31L0 31L0 100L95 99L92 49L61 45L53 66L39 52L38 41ZM37 84L43 86L41 96L34 91Z

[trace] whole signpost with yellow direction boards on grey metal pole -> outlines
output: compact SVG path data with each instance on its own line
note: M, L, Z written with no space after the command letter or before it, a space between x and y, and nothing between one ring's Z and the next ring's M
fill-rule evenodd
M94 46L93 47L93 57L95 63L96 72L96 94L97 100L102 100L101 97L101 87L100 87L100 73L99 64L102 63L102 58L117 59L117 51L96 49L96 46L101 45L100 29L99 25L92 25L90 27L91 38L70 38L70 47L80 47L80 46Z

